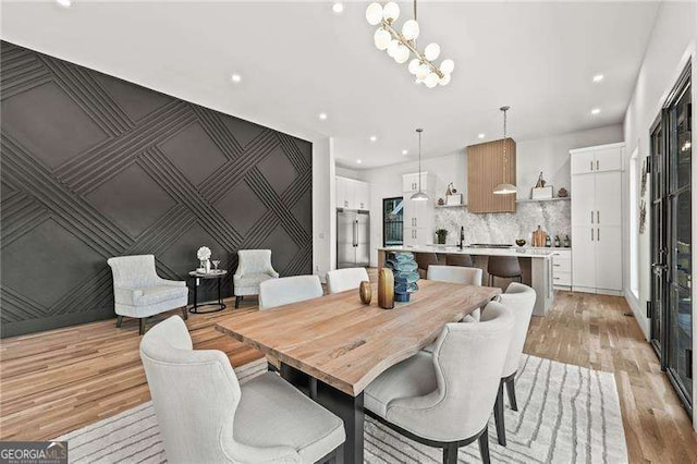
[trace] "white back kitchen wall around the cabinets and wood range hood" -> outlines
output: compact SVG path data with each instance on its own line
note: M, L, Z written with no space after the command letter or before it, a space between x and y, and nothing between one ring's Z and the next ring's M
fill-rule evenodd
M540 171L554 190L570 190L571 168L568 150L592 145L622 141L622 125L610 125L590 131L575 132L536 141L517 142L518 197L528 197L529 188L537 182ZM467 197L467 155L461 151L437 158L427 158L421 169L436 175L436 196L443 196L445 187L453 182L455 188ZM370 183L370 254L371 265L377 264L378 246L382 246L382 198L402 196L402 175L418 171L418 161L359 171L364 181ZM572 237L573 241L573 237ZM573 243L573 242L572 242Z

